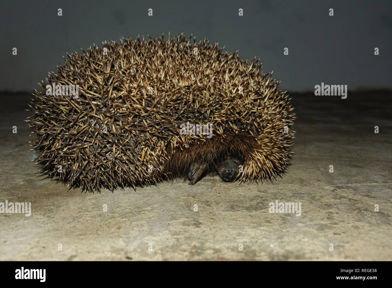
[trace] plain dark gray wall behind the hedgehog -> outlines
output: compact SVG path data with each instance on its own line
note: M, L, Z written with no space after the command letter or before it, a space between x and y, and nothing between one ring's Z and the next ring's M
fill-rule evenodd
M3 1L4 2L4 1ZM65 52L137 34L210 38L257 56L281 88L392 88L392 1L9 1L1 6L0 91L33 91ZM57 16L62 8L63 16ZM147 9L153 9L153 16ZM243 8L244 16L238 16ZM328 9L334 16L328 16ZM18 54L12 55L16 47ZM289 55L283 55L283 48ZM374 47L379 55L374 55Z

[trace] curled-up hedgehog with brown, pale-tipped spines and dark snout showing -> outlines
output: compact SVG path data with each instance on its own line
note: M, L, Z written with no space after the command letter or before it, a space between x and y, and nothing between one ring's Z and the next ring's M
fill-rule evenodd
M193 185L211 170L227 182L280 176L294 138L286 92L259 60L191 38L67 54L30 105L40 171L82 191Z

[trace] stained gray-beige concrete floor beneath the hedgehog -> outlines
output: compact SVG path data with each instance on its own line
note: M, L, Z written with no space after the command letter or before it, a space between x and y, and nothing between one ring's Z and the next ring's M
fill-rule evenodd
M31 202L32 214L0 214L0 260L392 260L392 93L291 95L297 134L283 179L95 194L37 174L23 121L32 96L2 95L0 202ZM276 200L301 202L301 216L270 214Z

